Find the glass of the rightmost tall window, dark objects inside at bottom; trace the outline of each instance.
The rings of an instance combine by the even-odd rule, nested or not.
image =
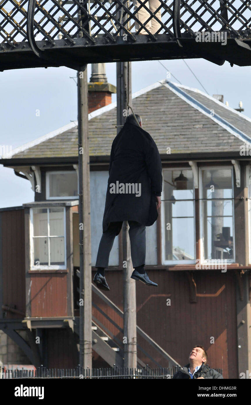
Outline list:
[[[200,169],[202,256],[234,260],[232,168]]]

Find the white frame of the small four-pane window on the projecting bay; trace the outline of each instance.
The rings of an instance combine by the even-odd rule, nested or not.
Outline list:
[[[50,241],[49,238],[49,209],[50,208],[63,208],[63,229],[64,229],[64,249],[65,249],[65,255],[64,255],[64,264],[53,264],[53,265],[40,265],[40,266],[34,266],[34,226],[33,226],[33,209],[47,209],[47,226],[48,226],[48,236],[45,236],[48,238],[48,260],[50,261]],[[44,237],[41,235],[40,237]],[[53,235],[53,237],[57,237]],[[30,208],[30,270],[66,270],[67,268],[67,263],[66,263],[66,215],[65,215],[65,207],[53,207],[53,206],[46,206],[46,207],[34,207]]]

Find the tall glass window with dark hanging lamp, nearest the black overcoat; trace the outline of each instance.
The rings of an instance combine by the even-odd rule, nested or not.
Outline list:
[[[163,182],[163,262],[194,263],[196,243],[192,169],[164,169]]]

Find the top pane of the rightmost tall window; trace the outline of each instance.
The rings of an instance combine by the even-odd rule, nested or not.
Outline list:
[[[203,198],[232,198],[232,169],[202,169]]]

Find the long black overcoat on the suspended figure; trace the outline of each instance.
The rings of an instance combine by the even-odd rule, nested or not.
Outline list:
[[[161,192],[162,165],[156,143],[141,127],[125,123],[112,143],[103,232],[110,222],[154,224],[156,196]]]

